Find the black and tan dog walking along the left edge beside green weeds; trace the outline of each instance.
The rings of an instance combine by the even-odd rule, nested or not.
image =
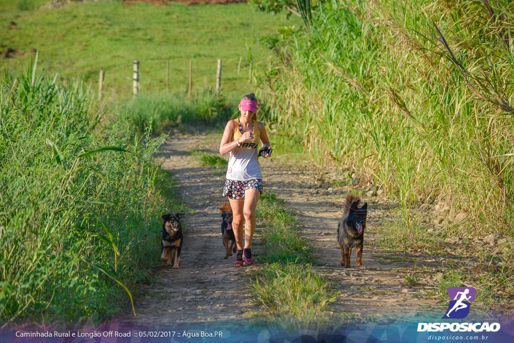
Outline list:
[[[173,269],[178,268],[180,250],[182,250],[184,241],[182,226],[180,225],[181,215],[183,213],[168,213],[162,216],[164,222],[162,223],[161,260],[168,262],[170,265],[173,264]]]

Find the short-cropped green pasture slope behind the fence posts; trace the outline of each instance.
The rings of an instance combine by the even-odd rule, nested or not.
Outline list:
[[[222,59],[222,91],[240,96],[248,88],[247,45],[254,66],[266,63],[269,53],[256,39],[297,19],[286,21],[282,15],[258,13],[246,4],[97,2],[21,11],[12,2],[2,0],[0,23],[8,27],[11,21],[17,28],[0,30],[0,50],[19,49],[22,61],[27,61],[31,49],[38,49],[42,67],[65,78],[84,77],[95,88],[99,70],[103,69],[105,89],[111,95],[131,94],[133,60],[140,61],[140,88],[148,94],[166,89],[167,61],[171,89],[187,92],[190,60],[193,88],[206,84],[214,87],[217,59]],[[18,64],[16,59],[0,59],[0,66]]]

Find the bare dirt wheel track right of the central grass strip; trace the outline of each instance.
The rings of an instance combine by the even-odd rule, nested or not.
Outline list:
[[[356,252],[352,251],[351,268],[340,266],[341,249],[337,243],[337,222],[341,218],[346,194],[350,191],[369,192],[356,184],[333,186],[340,183],[341,173],[298,168],[280,157],[262,162],[266,189],[296,209],[302,222],[302,233],[315,247],[321,275],[340,290],[334,311],[352,314],[357,319],[383,320],[409,318],[417,314],[437,311],[437,300],[426,301],[427,292],[435,282],[433,276],[441,267],[441,258],[389,254],[376,249],[375,240],[381,227],[388,225],[394,204],[384,203],[376,196],[362,196],[368,203],[368,219],[364,233],[362,266],[356,266]],[[287,159],[287,156],[282,158]],[[305,162],[308,166],[308,162]],[[287,176],[285,174],[287,173]],[[285,176],[285,177],[284,177]],[[404,276],[414,275],[423,268],[425,279],[409,285]],[[421,300],[424,299],[424,300]]]

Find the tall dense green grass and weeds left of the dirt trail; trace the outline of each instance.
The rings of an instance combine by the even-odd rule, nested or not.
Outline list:
[[[81,83],[35,62],[0,79],[0,323],[97,321],[158,256],[162,138],[102,124]]]

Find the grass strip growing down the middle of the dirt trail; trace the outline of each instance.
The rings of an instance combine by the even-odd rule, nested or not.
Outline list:
[[[263,228],[255,231],[262,249],[257,258],[265,265],[250,283],[253,302],[260,308],[254,315],[287,329],[328,322],[333,315],[328,305],[337,292],[313,268],[315,260],[299,235],[296,216],[272,193],[262,194],[257,215],[263,221]]]

